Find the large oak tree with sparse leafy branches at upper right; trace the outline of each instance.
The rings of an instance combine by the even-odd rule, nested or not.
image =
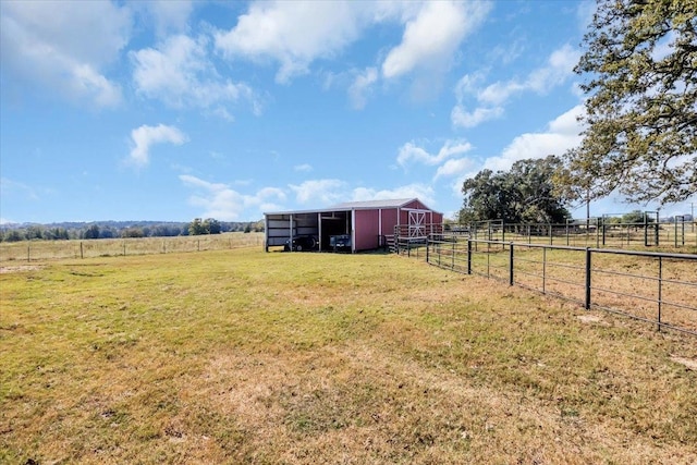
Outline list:
[[[575,71],[586,130],[566,194],[681,201],[697,192],[697,0],[598,0]]]

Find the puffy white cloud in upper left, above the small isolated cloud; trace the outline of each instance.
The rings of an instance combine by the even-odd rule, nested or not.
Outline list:
[[[223,102],[248,99],[256,112],[258,102],[252,88],[220,77],[208,59],[207,46],[208,40],[204,36],[193,39],[176,35],[158,48],[131,52],[136,91],[175,108],[215,107],[213,114],[225,120],[232,117]]]

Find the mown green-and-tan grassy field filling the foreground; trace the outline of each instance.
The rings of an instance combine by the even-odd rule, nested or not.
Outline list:
[[[519,287],[256,247],[9,271],[0,463],[697,462],[695,338]]]

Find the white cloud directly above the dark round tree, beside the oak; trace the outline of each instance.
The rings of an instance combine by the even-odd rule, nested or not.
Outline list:
[[[583,125],[577,117],[583,112],[584,106],[578,105],[551,121],[546,132],[521,134],[500,156],[488,158],[484,168],[493,171],[509,170],[518,160],[545,158],[548,155],[561,156],[580,143]]]

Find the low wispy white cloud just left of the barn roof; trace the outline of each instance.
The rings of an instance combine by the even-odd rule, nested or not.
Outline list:
[[[264,187],[255,195],[244,195],[228,184],[212,183],[189,174],[181,174],[179,179],[185,186],[197,189],[197,193],[188,198],[188,203],[201,209],[201,218],[215,218],[220,221],[258,218],[264,211],[278,209],[273,199],[285,200],[285,193],[277,187]]]

